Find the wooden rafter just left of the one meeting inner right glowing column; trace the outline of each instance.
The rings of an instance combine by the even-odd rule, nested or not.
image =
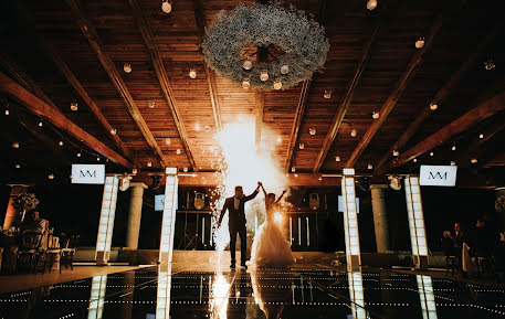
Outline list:
[[[347,88],[346,95],[340,103],[340,105],[337,108],[337,113],[335,114],[335,117],[333,119],[333,125],[328,130],[328,134],[326,135],[325,140],[323,141],[323,147],[319,150],[319,153],[317,155],[316,161],[314,163],[313,172],[318,172],[323,163],[325,162],[326,156],[328,155],[328,151],[332,147],[332,145],[335,141],[335,138],[337,137],[338,130],[340,129],[340,125],[344,120],[344,117],[346,116],[347,109],[349,108],[350,102],[353,100],[353,96],[355,93],[355,88],[358,85],[359,79],[361,78],[362,72],[365,71],[368,61],[370,60],[371,55],[371,47],[374,42],[377,39],[377,35],[379,34],[379,29],[380,24],[377,23],[376,26],[374,28],[374,33],[370,36],[370,40],[368,41],[367,45],[365,46],[364,54],[361,57],[361,61],[359,62],[358,68],[356,70],[355,76],[353,77],[353,81],[349,84],[349,87]]]

